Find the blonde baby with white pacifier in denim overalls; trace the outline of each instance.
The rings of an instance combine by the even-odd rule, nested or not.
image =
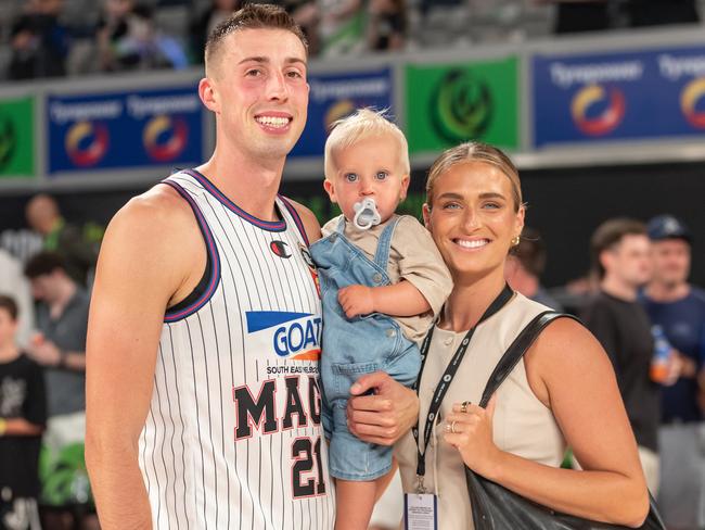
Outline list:
[[[409,155],[399,128],[362,109],[338,121],[325,143],[323,188],[343,215],[311,245],[323,302],[321,379],[330,470],[336,481],[336,530],[368,528],[374,479],[392,468],[392,447],[347,429],[350,386],[383,370],[412,386],[419,344],[452,289],[428,231],[395,214],[407,197]]]

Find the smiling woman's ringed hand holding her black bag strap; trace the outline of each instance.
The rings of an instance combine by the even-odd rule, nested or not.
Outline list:
[[[458,450],[465,465],[478,475],[491,479],[501,456],[492,441],[492,417],[497,394],[487,408],[467,403],[453,404],[453,412],[446,416],[444,439]],[[464,412],[463,412],[464,409]]]

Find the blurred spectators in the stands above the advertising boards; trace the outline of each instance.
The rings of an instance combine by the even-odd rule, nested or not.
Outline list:
[[[185,68],[240,0],[3,0],[8,79]],[[280,0],[312,56],[524,41],[553,34],[696,24],[701,0]]]

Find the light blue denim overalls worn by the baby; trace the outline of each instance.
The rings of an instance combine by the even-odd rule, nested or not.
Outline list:
[[[347,318],[337,301],[338,289],[351,285],[390,285],[387,261],[399,217],[382,230],[374,260],[336,231],[313,243],[323,301],[321,380],[324,418],[331,430],[330,472],[343,480],[373,480],[389,471],[392,447],[362,442],[347,430],[346,407],[350,386],[364,374],[383,370],[410,387],[416,380],[421,355],[394,318],[381,313]]]

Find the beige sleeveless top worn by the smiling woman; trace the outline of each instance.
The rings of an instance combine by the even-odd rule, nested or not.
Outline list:
[[[482,323],[440,405],[440,422],[426,450],[424,485],[438,495],[438,528],[443,530],[473,528],[467,500],[463,463],[458,451],[444,441],[444,421],[453,403],[469,400],[479,403],[485,384],[502,354],[522,329],[549,307],[515,294],[498,313]],[[425,418],[436,384],[452,358],[466,331],[456,333],[436,327],[419,388],[420,443],[423,443]],[[547,408],[531,392],[524,363],[518,363],[497,391],[493,418],[495,443],[502,451],[557,467],[565,451],[565,440]],[[416,488],[416,447],[409,432],[395,447],[405,493]]]

